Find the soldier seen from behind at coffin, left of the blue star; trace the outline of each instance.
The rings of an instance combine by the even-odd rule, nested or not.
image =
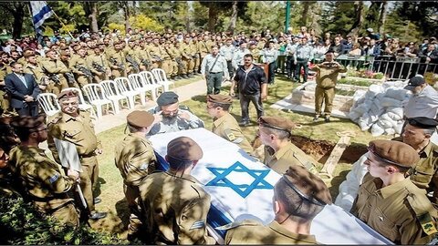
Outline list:
[[[210,195],[190,174],[203,150],[192,138],[174,138],[167,145],[167,172],[155,172],[140,186],[146,237],[151,244],[214,244],[207,235]],[[169,195],[172,194],[172,195]]]

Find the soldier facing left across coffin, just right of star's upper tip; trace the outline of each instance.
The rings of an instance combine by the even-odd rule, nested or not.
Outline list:
[[[258,134],[265,145],[263,163],[279,174],[285,173],[290,166],[303,166],[312,173],[318,173],[315,159],[310,158],[292,142],[292,129],[295,124],[287,118],[259,118]]]

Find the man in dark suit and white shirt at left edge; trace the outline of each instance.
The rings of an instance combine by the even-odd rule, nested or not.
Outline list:
[[[20,116],[36,117],[38,102],[36,97],[41,92],[31,74],[23,73],[20,63],[11,64],[12,73],[5,77],[5,87],[11,97],[11,107],[16,109]]]

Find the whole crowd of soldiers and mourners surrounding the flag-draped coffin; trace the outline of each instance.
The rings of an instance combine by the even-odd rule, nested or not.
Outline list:
[[[372,30],[368,32],[370,44],[372,40],[380,40]],[[384,39],[387,41],[388,36]],[[331,39],[328,36],[325,40]],[[335,36],[334,46],[321,53],[326,61],[313,68],[320,87],[315,120],[321,115],[325,100],[325,117],[329,121],[331,108],[327,104],[333,83],[336,84],[335,77],[345,69],[333,61],[345,52],[345,48],[339,48],[340,40],[340,36]],[[294,74],[291,67],[306,70],[308,62],[318,54],[314,47],[318,46],[317,41],[312,32],[301,28],[297,36],[272,36],[268,30],[251,37],[208,32],[183,35],[172,30],[166,30],[163,35],[142,30],[129,30],[126,36],[84,34],[79,40],[54,36],[43,48],[27,44],[20,46],[20,51],[14,41],[8,42],[9,49],[4,48],[1,56],[7,76],[0,83],[5,83],[2,105],[11,104],[2,107],[0,118],[0,191],[21,194],[37,210],[61,223],[78,226],[81,220],[105,218],[106,212],[95,209],[95,204],[101,201],[94,192],[99,179],[97,156],[103,150],[113,149],[101,148],[89,112],[78,108],[78,93],[61,90],[162,67],[171,78],[203,75],[208,87],[205,110],[214,120],[212,131],[282,176],[274,188],[275,219],[268,225],[251,220],[227,225],[224,242],[316,244],[318,238],[310,233],[312,220],[324,206],[332,203],[326,184],[318,177],[318,161],[292,142],[296,124],[289,118],[266,116],[262,101],[266,99],[267,86],[275,82],[274,63],[279,49],[285,47],[285,52],[289,52],[285,60],[289,76],[298,80],[296,76],[300,73]],[[32,43],[30,39],[29,42]],[[433,44],[426,50],[430,46],[435,54]],[[375,46],[370,47],[372,50],[369,48],[367,52],[374,53]],[[265,64],[267,73],[255,62]],[[222,77],[217,74],[232,78],[230,95],[220,94],[217,84]],[[402,139],[370,141],[366,161],[369,174],[351,210],[395,243],[423,244],[438,232],[436,196],[426,195],[438,194],[435,180],[438,152],[433,150],[438,147],[429,140],[438,125],[434,119],[438,97],[436,91],[433,94],[429,90],[427,97],[422,97],[425,87],[421,76],[412,77],[406,87],[417,96],[408,103],[408,109],[417,114],[407,118]],[[29,109],[40,91],[57,94],[61,110],[53,117]],[[229,113],[236,93],[242,106],[240,124]],[[206,230],[211,197],[191,174],[203,159],[203,149],[192,138],[174,138],[168,143],[164,157],[170,169],[157,171],[160,161],[148,139],[152,135],[204,127],[203,120],[181,105],[178,98],[172,91],[163,92],[157,98],[156,108],[130,112],[126,118],[129,133],[117,139],[113,153],[123,179],[120,186],[130,208],[129,238],[150,244],[214,244],[214,238]],[[262,143],[263,154],[250,144],[240,128],[249,124],[249,102],[253,102],[257,111],[257,139]],[[11,107],[19,116],[5,114]],[[426,111],[427,117],[418,115]],[[420,138],[421,134],[428,137]],[[44,141],[53,159],[38,148]],[[78,159],[68,158],[71,152]]]

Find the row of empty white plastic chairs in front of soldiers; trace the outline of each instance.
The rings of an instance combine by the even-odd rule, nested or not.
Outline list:
[[[146,104],[146,93],[150,92],[152,100],[156,101],[160,90],[169,91],[170,87],[175,87],[174,82],[166,77],[166,73],[161,68],[154,68],[150,71],[143,71],[139,74],[131,74],[128,77],[117,77],[114,80],[103,80],[99,84],[89,84],[82,87],[87,100],[82,91],[76,87],[63,89],[73,89],[78,92],[78,108],[90,110],[91,114],[97,118],[102,117],[102,108],[107,110],[111,107],[114,114],[120,112],[120,105],[123,102],[127,108],[135,107],[136,98],[140,98],[141,105]],[[57,103],[57,95],[53,93],[41,93],[37,101],[47,116],[53,116],[60,110]],[[94,108],[96,108],[96,113]]]

